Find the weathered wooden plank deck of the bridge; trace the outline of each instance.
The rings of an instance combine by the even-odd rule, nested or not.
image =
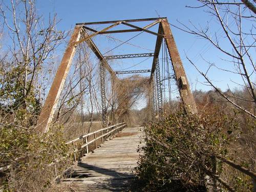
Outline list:
[[[94,153],[82,157],[72,178],[65,179],[75,191],[129,190],[137,166],[142,127],[126,127],[105,141]]]

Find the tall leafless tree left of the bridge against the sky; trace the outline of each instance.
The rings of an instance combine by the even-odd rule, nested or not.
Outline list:
[[[42,68],[54,58],[54,51],[66,37],[58,31],[56,15],[49,14],[47,23],[37,14],[34,0],[10,0],[0,6],[4,32],[9,34],[12,45],[8,47],[8,67],[18,69],[18,81],[22,86],[22,97],[19,104],[26,109],[26,101],[31,90],[39,84],[37,76]],[[11,17],[7,16],[11,15]]]

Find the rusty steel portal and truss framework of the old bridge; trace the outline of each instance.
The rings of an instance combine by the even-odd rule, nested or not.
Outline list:
[[[146,21],[153,21],[153,23],[141,28],[138,26],[135,26],[131,23],[133,22],[146,22]],[[106,27],[100,31],[96,31],[92,28],[89,28],[89,25],[100,25],[100,24],[112,24],[109,27]],[[129,26],[133,29],[126,29],[126,30],[112,30],[110,29],[118,26],[118,25],[125,25]],[[153,32],[148,30],[152,26],[159,24],[158,32]],[[88,34],[86,30],[92,31],[92,34]],[[161,49],[163,38],[166,42],[167,49],[169,52],[170,59],[172,61],[175,78],[178,84],[180,97],[184,106],[184,110],[187,113],[197,113],[197,107],[194,100],[194,97],[190,91],[188,80],[180,59],[180,55],[177,49],[177,46],[175,44],[175,40],[172,34],[172,31],[170,30],[168,20],[166,17],[162,18],[143,18],[143,19],[129,19],[129,20],[114,20],[114,21],[108,21],[108,22],[91,22],[91,23],[80,23],[76,24],[74,28],[74,32],[69,40],[69,44],[66,48],[66,51],[63,55],[63,58],[60,62],[60,65],[58,67],[57,73],[55,75],[55,78],[53,80],[51,89],[48,93],[47,99],[45,101],[44,106],[42,107],[41,113],[39,115],[39,118],[37,120],[37,126],[36,129],[39,132],[46,133],[49,130],[49,126],[52,122],[56,106],[59,100],[60,92],[63,89],[63,84],[65,83],[67,74],[69,72],[72,58],[75,53],[75,49],[78,44],[80,44],[83,41],[86,41],[88,46],[91,48],[91,50],[95,53],[95,55],[98,57],[100,61],[100,76],[101,76],[101,98],[102,98],[102,121],[103,124],[106,123],[106,107],[103,106],[105,103],[105,81],[103,78],[103,69],[106,69],[110,72],[111,77],[117,81],[118,77],[116,76],[115,72],[110,67],[107,60],[102,56],[94,42],[92,41],[92,37],[98,35],[98,34],[108,34],[108,33],[125,33],[125,32],[138,32],[143,31],[149,34],[153,34],[157,36],[156,40],[156,46],[155,46],[155,52],[154,52],[154,58],[152,63],[152,70],[151,70],[151,78],[150,81],[152,81],[152,77],[154,76],[155,72],[158,73],[157,69],[157,62],[158,62],[158,56]],[[136,54],[136,53],[135,53]],[[130,55],[135,55],[130,54]],[[142,56],[142,55],[141,55]],[[160,71],[159,71],[160,73]],[[160,74],[157,75],[157,93],[158,93],[158,103],[162,101],[162,94],[160,93],[161,90],[161,82],[159,80]],[[159,76],[159,78],[158,78]],[[159,87],[160,86],[160,87]],[[158,111],[161,111],[162,106],[158,104]]]

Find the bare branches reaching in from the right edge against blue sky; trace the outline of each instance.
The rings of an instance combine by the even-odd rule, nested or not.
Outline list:
[[[255,6],[249,1],[242,2],[219,2],[215,0],[198,0],[199,6],[187,6],[190,8],[204,8],[210,16],[216,19],[222,33],[224,33],[224,39],[221,39],[217,31],[210,28],[209,23],[205,27],[197,27],[193,23],[191,26],[184,25],[178,27],[182,31],[196,35],[199,38],[208,41],[214,48],[216,48],[222,54],[222,60],[226,62],[225,66],[219,67],[214,61],[209,61],[205,58],[203,60],[208,64],[208,69],[203,72],[199,69],[195,61],[190,59],[187,55],[188,61],[197,69],[197,71],[205,78],[209,86],[217,91],[223,98],[226,99],[233,106],[236,106],[239,110],[242,110],[251,117],[256,118],[256,93],[255,83],[252,78],[255,74],[255,60],[253,54],[255,53]],[[223,45],[223,41],[227,46]],[[228,59],[226,59],[228,58]],[[233,65],[233,70],[230,70],[230,63]],[[232,79],[238,86],[245,88],[249,94],[249,98],[246,96],[238,96],[231,90],[224,93],[218,89],[207,74],[210,73],[212,68],[217,68],[226,73],[236,74],[242,80],[242,84],[237,79]],[[245,106],[239,103],[239,101],[251,103],[251,108],[247,109]]]

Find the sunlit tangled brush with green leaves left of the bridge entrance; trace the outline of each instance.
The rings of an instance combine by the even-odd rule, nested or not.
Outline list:
[[[65,141],[61,126],[47,134],[34,127],[2,126],[0,167],[11,165],[0,177],[4,191],[49,191],[53,179],[72,162]]]

